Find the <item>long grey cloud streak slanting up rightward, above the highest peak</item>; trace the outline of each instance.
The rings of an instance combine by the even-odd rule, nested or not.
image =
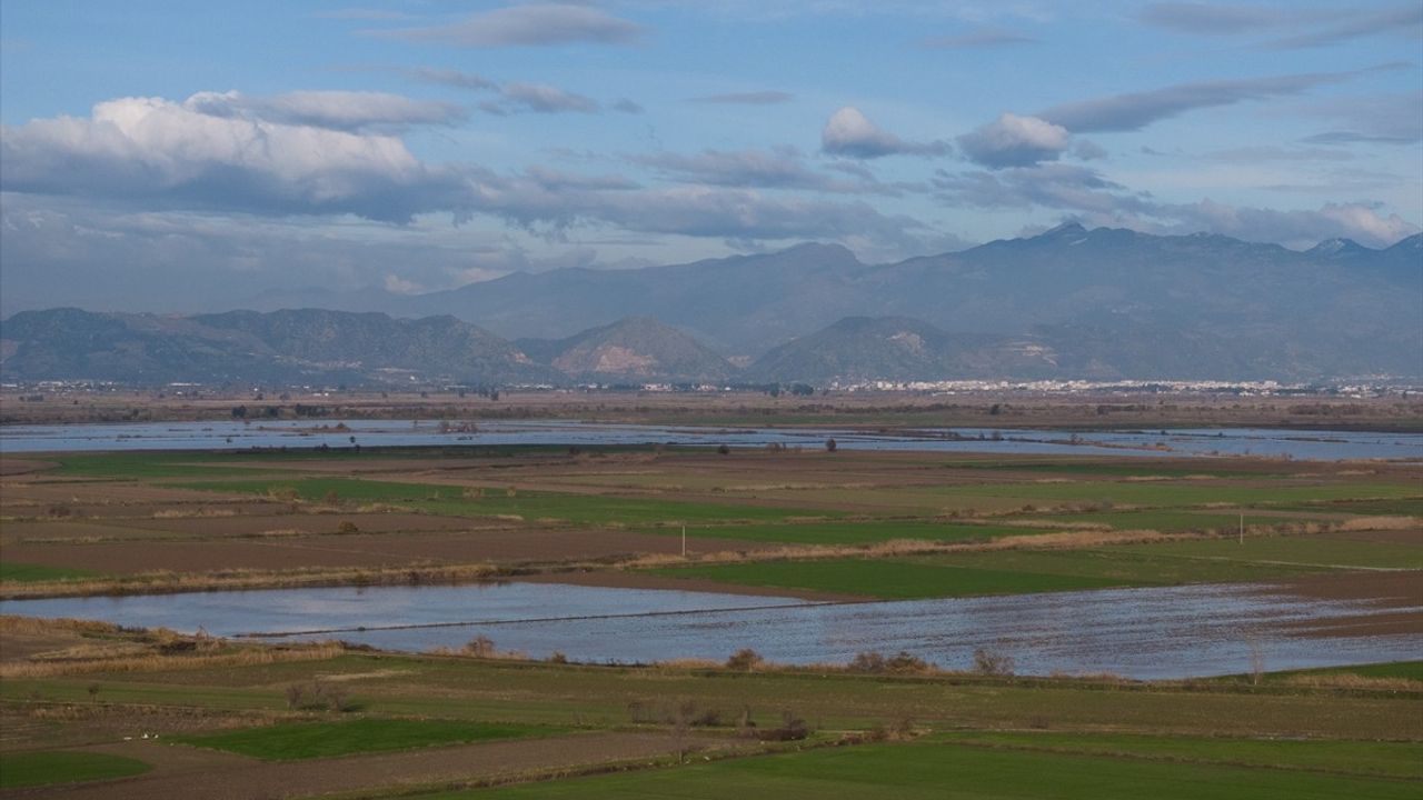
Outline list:
[[[1319,85],[1352,80],[1359,74],[1360,71],[1311,73],[1271,78],[1198,81],[1066,102],[1054,105],[1037,117],[1074,134],[1140,131],[1151,122],[1177,117],[1195,108],[1302,94]]]

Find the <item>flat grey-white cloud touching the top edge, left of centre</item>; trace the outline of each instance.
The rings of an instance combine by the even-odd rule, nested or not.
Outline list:
[[[529,3],[465,17],[434,27],[370,31],[407,41],[440,41],[455,47],[548,47],[555,44],[636,44],[643,27],[591,6]]]

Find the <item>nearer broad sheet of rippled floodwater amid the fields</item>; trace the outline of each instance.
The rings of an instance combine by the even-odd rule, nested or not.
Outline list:
[[[753,648],[781,663],[845,663],[865,651],[908,651],[946,669],[968,669],[973,651],[989,648],[1012,656],[1023,675],[1138,679],[1249,672],[1254,653],[1269,670],[1419,658],[1423,635],[1306,635],[1311,622],[1377,612],[1359,601],[1252,585],[861,604],[524,582],[0,602],[0,614],[269,641],[344,639],[406,652],[488,636],[499,649],[532,658],[558,651],[596,663],[723,660]]]

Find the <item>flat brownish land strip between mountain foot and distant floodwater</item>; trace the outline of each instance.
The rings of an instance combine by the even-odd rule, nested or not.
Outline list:
[[[297,406],[300,406],[300,413]],[[1385,397],[1234,393],[820,391],[269,391],[47,389],[0,391],[0,424],[181,420],[579,420],[684,426],[915,427],[1292,427],[1423,431],[1423,403]],[[314,414],[314,416],[312,416]]]

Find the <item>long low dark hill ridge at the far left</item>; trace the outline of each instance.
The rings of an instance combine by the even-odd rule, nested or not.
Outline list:
[[[0,323],[6,380],[552,383],[508,342],[454,317],[285,310],[194,317],[24,312]]]

